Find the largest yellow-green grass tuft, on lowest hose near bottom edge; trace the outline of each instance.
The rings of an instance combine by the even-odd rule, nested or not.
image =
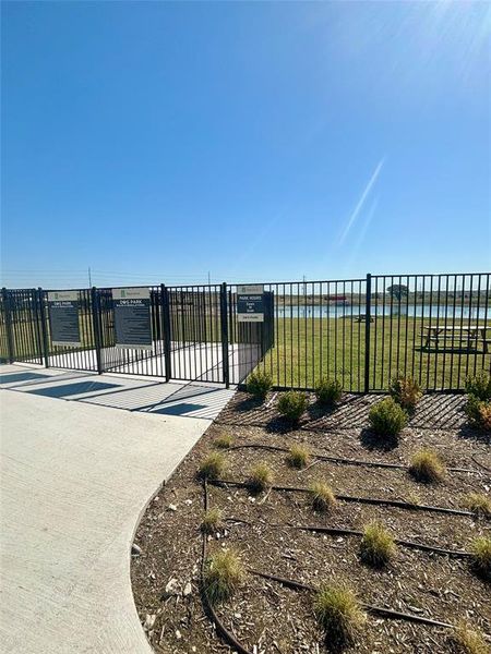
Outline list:
[[[314,597],[315,618],[333,644],[352,641],[364,622],[364,614],[355,593],[343,586],[324,585]]]

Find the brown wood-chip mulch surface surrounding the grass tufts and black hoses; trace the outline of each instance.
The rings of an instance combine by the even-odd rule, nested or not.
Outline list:
[[[304,487],[325,480],[336,494],[403,499],[424,505],[462,508],[469,492],[489,493],[489,438],[465,427],[460,396],[424,396],[397,446],[380,448],[368,428],[368,411],[376,396],[347,396],[327,414],[312,401],[295,431],[287,429],[275,410],[275,398],[258,407],[246,393],[236,393],[171,480],[149,504],[135,543],[141,554],[132,559],[136,608],[156,652],[230,652],[203,609],[200,595],[204,493],[196,481],[200,461],[214,450],[224,433],[233,445],[262,444],[288,448],[307,445],[316,453],[407,464],[421,447],[436,450],[448,467],[475,472],[447,473],[441,484],[415,482],[406,471],[354,467],[318,461],[297,471],[285,455],[263,449],[225,451],[228,480],[246,481],[249,469],[267,463],[279,486]],[[432,426],[429,426],[432,423]],[[450,426],[452,425],[452,426]],[[474,457],[474,458],[472,458]],[[314,459],[312,459],[314,460]],[[271,491],[251,496],[246,488],[208,485],[211,507],[219,507],[225,526],[207,541],[207,552],[220,547],[240,550],[247,566],[319,586],[343,581],[362,602],[454,623],[466,619],[491,633],[489,582],[477,577],[467,559],[399,547],[394,562],[374,570],[360,561],[357,536],[332,536],[292,530],[290,525],[339,526],[362,530],[382,520],[395,537],[448,549],[468,549],[477,535],[490,535],[490,523],[474,517],[403,510],[338,501],[333,511],[315,513],[301,493]],[[235,521],[237,519],[237,521]],[[240,522],[243,521],[243,522]],[[294,591],[274,581],[248,574],[232,598],[216,607],[224,627],[256,654],[328,649],[315,623],[309,592]],[[457,652],[450,630],[368,615],[367,623],[347,652]]]

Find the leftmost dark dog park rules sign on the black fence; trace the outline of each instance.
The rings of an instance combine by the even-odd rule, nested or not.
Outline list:
[[[79,291],[49,291],[48,310],[52,344],[81,346]]]

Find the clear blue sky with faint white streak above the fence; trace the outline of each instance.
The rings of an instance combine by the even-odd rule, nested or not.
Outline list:
[[[3,2],[2,284],[490,268],[487,2]]]

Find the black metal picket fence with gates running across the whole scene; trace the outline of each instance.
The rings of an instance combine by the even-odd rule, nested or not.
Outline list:
[[[382,391],[396,374],[462,390],[491,371],[490,274],[368,275],[264,284],[264,323],[240,323],[237,286],[147,287],[151,350],[116,347],[111,289],[79,289],[81,346],[53,346],[41,289],[2,290],[0,356],[93,372],[240,384],[255,367],[277,388],[336,377]]]

